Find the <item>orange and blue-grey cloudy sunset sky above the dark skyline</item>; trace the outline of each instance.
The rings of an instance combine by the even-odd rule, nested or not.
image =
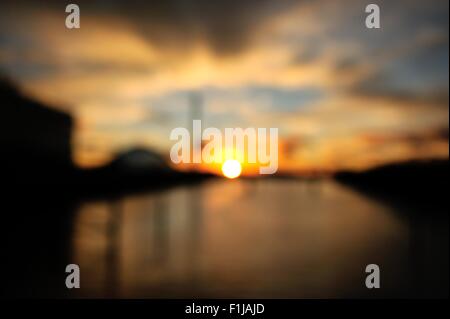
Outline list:
[[[363,170],[448,158],[448,1],[0,3],[0,74],[75,119],[83,167],[189,125],[277,127],[279,170]]]

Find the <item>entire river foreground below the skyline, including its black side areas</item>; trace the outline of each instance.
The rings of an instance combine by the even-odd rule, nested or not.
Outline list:
[[[3,209],[3,295],[118,298],[448,296],[444,207],[333,180],[222,180],[80,199],[36,189]],[[65,266],[81,288],[65,287]],[[381,268],[381,289],[364,285]]]

